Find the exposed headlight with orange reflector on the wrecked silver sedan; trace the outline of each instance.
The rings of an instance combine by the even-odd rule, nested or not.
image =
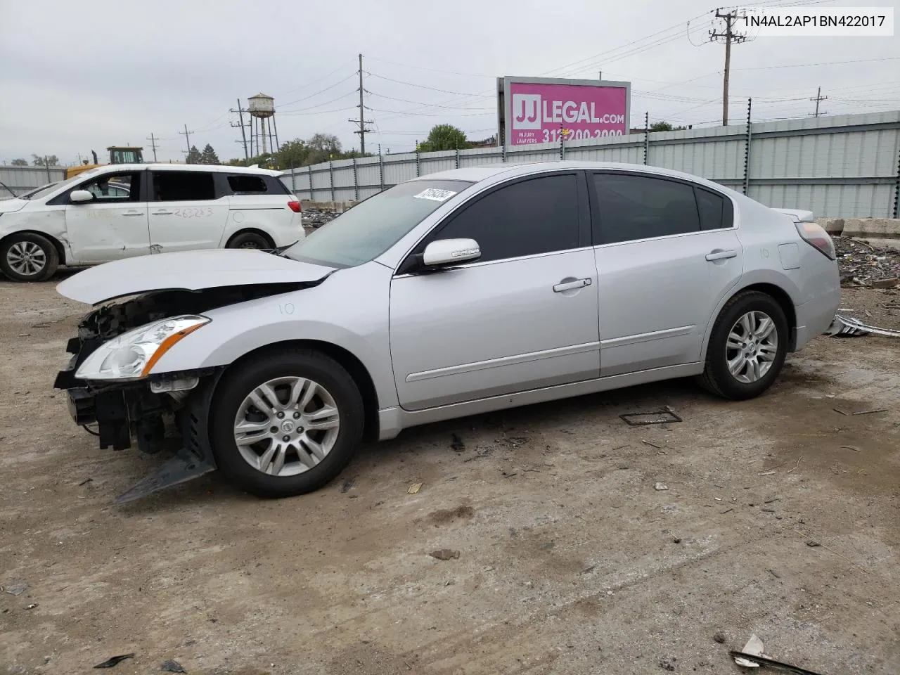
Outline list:
[[[171,317],[122,333],[97,347],[75,376],[79,380],[140,380],[178,340],[209,323],[206,317]]]

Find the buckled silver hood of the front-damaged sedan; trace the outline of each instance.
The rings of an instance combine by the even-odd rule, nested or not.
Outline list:
[[[202,291],[222,286],[314,284],[335,271],[247,248],[216,248],[130,257],[86,269],[57,293],[97,304],[150,291]]]

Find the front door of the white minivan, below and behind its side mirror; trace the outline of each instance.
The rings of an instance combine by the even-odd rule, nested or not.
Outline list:
[[[76,184],[66,194],[66,230],[73,262],[93,265],[150,252],[143,175],[143,171],[104,173]],[[75,190],[86,190],[94,199],[71,202],[68,195]]]

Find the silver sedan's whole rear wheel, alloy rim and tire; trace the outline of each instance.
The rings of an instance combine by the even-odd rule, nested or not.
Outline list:
[[[779,303],[766,293],[738,293],[713,326],[700,383],[726,399],[752,399],[779,376],[787,352],[788,320]]]

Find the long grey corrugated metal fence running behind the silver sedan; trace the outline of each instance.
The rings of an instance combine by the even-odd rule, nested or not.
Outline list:
[[[748,136],[750,142],[748,144]],[[749,145],[749,155],[748,155]],[[284,184],[302,199],[365,199],[417,175],[456,166],[566,159],[646,164],[701,175],[768,206],[817,216],[890,218],[900,184],[900,111],[577,140],[524,149],[477,148],[344,159],[295,169]],[[310,189],[312,184],[312,190]],[[332,187],[333,186],[333,187]]]

